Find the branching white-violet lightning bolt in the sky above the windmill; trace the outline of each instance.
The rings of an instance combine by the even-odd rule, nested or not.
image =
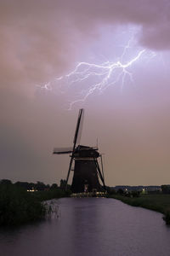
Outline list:
[[[70,102],[69,110],[77,102],[85,102],[88,96],[94,94],[95,91],[103,93],[109,86],[113,86],[117,83],[121,84],[121,90],[125,85],[125,80],[128,77],[133,83],[133,73],[130,71],[130,67],[142,56],[148,55],[148,50],[140,49],[130,61],[124,61],[127,50],[131,48],[133,38],[127,42],[127,45],[123,48],[122,55],[117,61],[105,61],[102,64],[95,64],[89,62],[78,62],[77,66],[71,73],[65,76],[54,79],[53,82],[48,82],[41,87],[41,89],[52,90],[53,84],[65,83],[68,84],[68,90],[72,90],[74,86],[79,85],[80,96],[75,101]],[[155,52],[150,52],[150,58],[156,55]],[[92,82],[93,81],[93,82]],[[87,82],[89,84],[82,88],[82,84]],[[60,88],[63,88],[60,86]],[[74,87],[75,88],[75,87]]]

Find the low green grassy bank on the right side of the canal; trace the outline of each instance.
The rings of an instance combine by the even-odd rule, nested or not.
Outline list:
[[[109,195],[110,198],[121,200],[133,207],[144,207],[164,214],[164,220],[170,224],[170,195],[140,195],[139,197],[127,197],[124,195]]]

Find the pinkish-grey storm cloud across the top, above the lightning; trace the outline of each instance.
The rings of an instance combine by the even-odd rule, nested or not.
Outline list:
[[[166,0],[1,1],[0,86],[48,81],[70,67],[99,26],[129,23],[141,26],[140,44],[169,49]]]

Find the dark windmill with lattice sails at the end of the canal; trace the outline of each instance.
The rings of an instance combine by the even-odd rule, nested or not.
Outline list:
[[[82,133],[82,122],[84,109],[80,109],[77,119],[77,127],[73,140],[73,147],[70,148],[54,148],[53,154],[71,154],[69,170],[66,177],[65,189],[68,183],[70,172],[72,170],[73,161],[74,175],[71,184],[73,193],[102,191],[105,189],[105,178],[103,172],[102,155],[99,154],[97,147],[88,147],[80,145]],[[101,160],[101,170],[99,167],[98,158]],[[99,183],[99,178],[103,183],[103,187]]]

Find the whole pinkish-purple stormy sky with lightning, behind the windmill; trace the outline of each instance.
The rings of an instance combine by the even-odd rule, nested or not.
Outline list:
[[[169,0],[0,0],[0,56],[0,179],[65,178],[84,108],[107,185],[170,183]]]

